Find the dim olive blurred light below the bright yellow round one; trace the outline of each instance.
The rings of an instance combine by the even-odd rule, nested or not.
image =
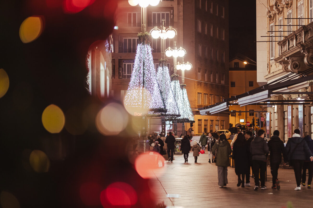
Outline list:
[[[30,153],[29,163],[33,170],[38,173],[48,172],[50,168],[49,157],[41,150],[33,150]]]

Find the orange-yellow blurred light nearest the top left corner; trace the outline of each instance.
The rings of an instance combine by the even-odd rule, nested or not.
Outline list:
[[[30,43],[36,40],[44,29],[44,19],[39,16],[26,18],[20,27],[19,35],[23,43]]]

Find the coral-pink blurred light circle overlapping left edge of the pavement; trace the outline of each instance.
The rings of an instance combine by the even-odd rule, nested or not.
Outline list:
[[[142,178],[152,178],[155,175],[162,174],[164,168],[159,168],[157,155],[149,153],[140,154],[135,160],[135,169]],[[162,157],[162,155],[159,155]],[[163,158],[164,159],[164,158]],[[154,172],[158,170],[157,172]]]

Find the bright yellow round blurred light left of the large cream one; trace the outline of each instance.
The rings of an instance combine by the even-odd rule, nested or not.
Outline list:
[[[56,105],[51,104],[42,113],[42,124],[50,133],[59,133],[65,123],[63,111]]]

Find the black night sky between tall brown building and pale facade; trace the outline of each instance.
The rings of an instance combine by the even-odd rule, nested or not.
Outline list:
[[[229,1],[229,59],[241,53],[256,61],[256,2]]]

